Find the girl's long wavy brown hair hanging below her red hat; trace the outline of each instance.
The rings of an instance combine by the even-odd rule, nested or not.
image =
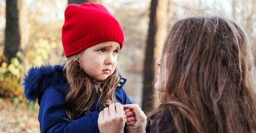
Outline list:
[[[114,92],[119,81],[119,74],[116,69],[111,76],[101,83],[93,81],[81,68],[80,55],[81,52],[68,57],[64,67],[70,87],[65,99],[65,109],[70,120],[75,120],[90,113],[89,110],[97,96],[99,97],[100,109],[115,102]],[[102,88],[102,92],[99,88]]]

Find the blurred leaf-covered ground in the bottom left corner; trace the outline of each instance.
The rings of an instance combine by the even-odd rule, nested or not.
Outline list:
[[[0,98],[1,133],[38,133],[38,108],[14,104],[10,99]]]

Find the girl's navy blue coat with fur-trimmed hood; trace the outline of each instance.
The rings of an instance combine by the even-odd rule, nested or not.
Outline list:
[[[120,78],[120,85],[115,90],[116,101],[131,104],[125,94],[126,79]],[[65,111],[65,97],[68,92],[67,79],[63,74],[63,66],[32,67],[24,78],[24,96],[29,101],[38,99],[40,106],[38,120],[41,132],[99,132],[96,109],[97,100],[88,115],[70,122]]]

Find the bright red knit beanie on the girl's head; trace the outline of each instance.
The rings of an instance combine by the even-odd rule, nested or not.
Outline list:
[[[100,4],[69,4],[65,10],[61,41],[66,57],[104,41],[122,48],[124,32],[118,21]]]

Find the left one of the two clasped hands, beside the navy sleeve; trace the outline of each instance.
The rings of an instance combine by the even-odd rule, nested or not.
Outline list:
[[[122,133],[126,122],[124,107],[120,103],[110,104],[108,108],[104,108],[99,113],[100,133]]]

